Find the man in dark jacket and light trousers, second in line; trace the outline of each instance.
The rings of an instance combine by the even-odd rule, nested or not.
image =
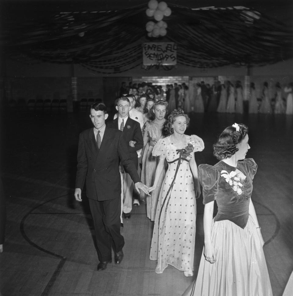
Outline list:
[[[112,129],[120,129],[123,131],[123,137],[128,145],[130,158],[133,160],[136,169],[138,168],[138,155],[137,151],[143,148],[143,135],[138,122],[129,117],[130,101],[128,97],[120,97],[117,101],[116,110],[118,117],[113,121],[108,122],[107,126]],[[123,217],[130,218],[132,210],[132,195],[133,195],[133,182],[127,172],[123,173]],[[121,197],[122,199],[122,197]]]

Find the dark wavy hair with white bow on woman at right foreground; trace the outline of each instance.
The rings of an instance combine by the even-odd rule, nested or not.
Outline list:
[[[232,125],[226,127],[219,136],[218,141],[213,145],[214,156],[222,160],[224,158],[230,158],[239,149],[239,144],[247,135],[248,127],[243,123],[239,123],[239,132]]]

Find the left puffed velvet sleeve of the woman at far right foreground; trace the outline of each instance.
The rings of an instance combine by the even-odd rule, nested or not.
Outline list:
[[[217,198],[219,189],[220,173],[215,167],[208,164],[198,166],[198,179],[202,185],[202,195],[204,205]]]

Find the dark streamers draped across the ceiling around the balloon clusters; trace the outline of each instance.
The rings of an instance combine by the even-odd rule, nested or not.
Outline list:
[[[241,6],[169,5],[164,37],[147,36],[146,4],[99,12],[60,12],[34,19],[2,17],[1,46],[17,60],[75,63],[102,73],[142,65],[142,43],[172,41],[177,63],[200,68],[266,65],[293,57],[293,30]]]

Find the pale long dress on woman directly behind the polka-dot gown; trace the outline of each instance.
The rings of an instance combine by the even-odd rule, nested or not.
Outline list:
[[[157,144],[157,141],[162,136],[163,125],[157,124],[155,121],[146,122],[143,128],[143,135],[149,138],[147,145],[143,151],[142,159],[142,170],[141,170],[141,181],[148,187],[154,184],[155,172],[159,158],[152,155],[154,146]],[[161,172],[160,179],[158,181],[157,188],[150,193],[150,196],[146,197],[147,201],[147,217],[154,221],[157,210],[157,203],[159,198],[159,193],[161,190],[161,185],[165,176],[165,169]]]

